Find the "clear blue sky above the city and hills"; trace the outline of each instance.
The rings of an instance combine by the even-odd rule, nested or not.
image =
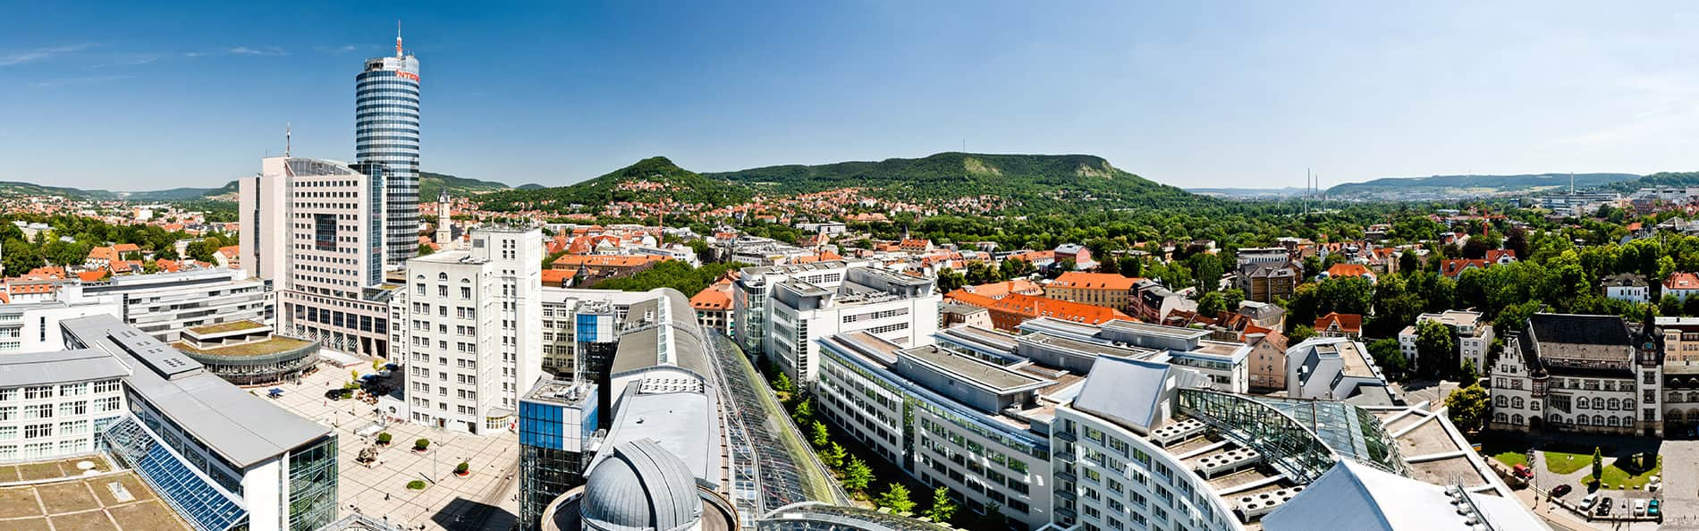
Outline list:
[[[217,187],[353,154],[421,63],[426,171],[562,185],[1091,153],[1183,187],[1699,170],[1699,3],[7,2],[0,180]]]

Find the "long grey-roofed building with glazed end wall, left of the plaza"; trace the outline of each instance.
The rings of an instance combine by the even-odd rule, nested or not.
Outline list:
[[[44,414],[44,402],[29,404],[31,395],[44,397],[41,387],[70,394],[54,411],[65,416],[56,422],[71,422],[53,428],[59,444],[80,438],[83,428],[75,422],[83,416],[80,397],[87,397],[88,429],[100,438],[100,448],[134,468],[194,529],[318,529],[336,519],[335,431],[221,380],[117,317],[90,316],[59,326],[70,351],[49,353],[46,363],[54,366],[37,372],[65,382],[36,382],[19,395],[25,407]],[[124,370],[122,397],[112,394],[110,372],[58,366],[90,363],[93,356]],[[121,407],[122,416],[109,416],[112,407]]]

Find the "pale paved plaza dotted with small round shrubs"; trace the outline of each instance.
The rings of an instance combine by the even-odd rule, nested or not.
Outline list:
[[[362,373],[370,366],[362,366]],[[372,446],[381,422],[375,407],[360,400],[326,400],[325,390],[350,380],[347,368],[319,365],[301,385],[279,385],[275,400],[291,412],[331,426],[340,436],[338,516],[360,512],[372,519],[399,523],[406,529],[508,529],[518,517],[518,434],[471,436],[409,422],[389,422],[382,431],[394,436],[389,448],[377,450],[372,467],[357,461],[360,448]],[[265,397],[267,388],[253,394]],[[415,439],[430,439],[430,451],[415,453]],[[471,463],[467,477],[454,475],[454,465]],[[406,483],[423,480],[425,490],[408,490]],[[423,526],[423,528],[421,528]]]

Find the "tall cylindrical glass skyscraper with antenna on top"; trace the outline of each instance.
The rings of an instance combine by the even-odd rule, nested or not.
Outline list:
[[[398,34],[396,54],[365,59],[353,80],[355,158],[386,166],[384,263],[399,265],[418,253],[420,61]]]

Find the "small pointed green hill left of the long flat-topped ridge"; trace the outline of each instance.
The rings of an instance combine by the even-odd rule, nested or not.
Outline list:
[[[488,210],[556,210],[566,212],[573,204],[603,205],[608,202],[652,202],[673,198],[686,204],[729,205],[749,200],[751,192],[724,180],[707,178],[680,168],[664,156],[651,156],[635,165],[615,170],[569,187],[503,190],[481,195]]]

